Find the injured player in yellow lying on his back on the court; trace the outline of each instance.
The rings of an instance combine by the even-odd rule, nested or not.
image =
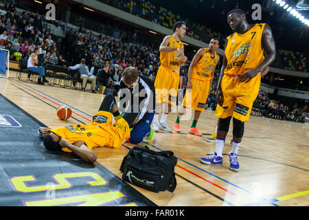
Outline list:
[[[84,161],[93,163],[97,156],[91,151],[92,148],[119,148],[124,140],[130,137],[129,126],[139,115],[131,113],[131,107],[122,117],[117,110],[115,98],[108,94],[102,101],[98,113],[91,118],[91,124],[74,124],[58,129],[41,127],[38,129],[38,136],[44,138],[45,148],[49,151],[73,152]],[[116,119],[114,124],[112,114]]]

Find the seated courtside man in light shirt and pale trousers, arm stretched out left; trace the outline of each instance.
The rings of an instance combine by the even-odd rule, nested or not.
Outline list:
[[[85,91],[87,80],[91,81],[91,92],[96,94],[95,91],[95,76],[91,75],[89,72],[89,67],[86,65],[86,60],[82,58],[79,64],[76,64],[73,67],[69,67],[70,69],[78,69],[80,72],[80,78],[82,79],[82,91]]]

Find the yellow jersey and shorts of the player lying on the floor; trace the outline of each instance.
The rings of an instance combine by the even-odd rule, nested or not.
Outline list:
[[[119,148],[125,138],[130,137],[126,120],[121,118],[112,124],[112,115],[107,111],[99,111],[93,115],[91,124],[73,124],[49,131],[68,140],[71,144],[83,141],[89,149],[97,146]],[[65,147],[62,147],[62,151],[71,152]]]

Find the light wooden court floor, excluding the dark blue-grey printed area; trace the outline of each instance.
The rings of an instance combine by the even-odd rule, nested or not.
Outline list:
[[[88,124],[104,98],[76,89],[37,85],[12,78],[0,78],[0,94],[47,124],[51,128],[68,124]],[[89,86],[89,85],[88,85]],[[68,104],[73,118],[61,121],[56,117],[60,104]],[[75,118],[75,119],[74,119]],[[168,116],[168,124],[176,113]],[[211,134],[216,127],[214,111],[205,110],[198,121],[202,133]],[[205,141],[209,135],[187,134],[192,119],[181,121],[182,133],[155,133],[150,141],[141,142],[150,148],[170,150],[179,157],[176,165],[176,190],[171,193],[150,192],[136,188],[159,206],[308,206],[309,205],[309,124],[286,122],[251,116],[245,123],[238,161],[239,172],[229,170],[229,159],[223,155],[223,166],[205,165],[200,157],[214,153],[215,144]],[[231,129],[223,150],[228,154]],[[124,144],[128,147],[133,144]],[[119,166],[128,148],[95,148],[98,162],[122,176]]]

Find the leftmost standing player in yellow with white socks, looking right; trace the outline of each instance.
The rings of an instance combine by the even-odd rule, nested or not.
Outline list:
[[[161,65],[155,80],[156,89],[156,113],[155,122],[152,125],[154,131],[163,129],[171,132],[165,122],[170,113],[171,104],[176,104],[176,97],[179,87],[179,69],[187,62],[187,57],[183,52],[183,43],[180,39],[185,36],[185,23],[178,21],[173,25],[173,35],[165,36],[160,45]],[[163,103],[163,115],[158,121],[160,104]],[[168,104],[167,104],[168,103]]]

